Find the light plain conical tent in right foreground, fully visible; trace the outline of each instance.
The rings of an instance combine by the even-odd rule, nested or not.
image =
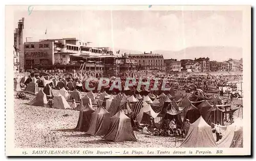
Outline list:
[[[186,139],[180,147],[217,148],[211,127],[204,121],[203,117],[200,117],[196,122],[190,124]]]

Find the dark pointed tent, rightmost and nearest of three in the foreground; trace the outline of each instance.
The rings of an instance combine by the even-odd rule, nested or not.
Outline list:
[[[122,110],[110,118],[110,126],[103,139],[114,142],[137,141],[131,125],[131,119]]]

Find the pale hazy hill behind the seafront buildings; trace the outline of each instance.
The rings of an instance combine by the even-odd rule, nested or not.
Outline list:
[[[243,57],[242,48],[237,47],[189,47],[181,51],[157,50],[152,53],[162,54],[164,59],[195,59],[199,57],[209,57],[210,60],[224,61],[229,58],[241,59]]]

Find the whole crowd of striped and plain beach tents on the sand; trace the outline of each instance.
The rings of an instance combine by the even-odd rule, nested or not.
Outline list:
[[[111,141],[137,141],[132,127],[133,120],[140,124],[147,124],[151,118],[155,119],[162,115],[159,128],[161,128],[164,119],[175,119],[180,127],[186,119],[191,123],[181,147],[217,147],[211,125],[217,122],[224,125],[224,114],[231,111],[222,109],[222,100],[219,96],[205,99],[203,95],[193,94],[188,98],[187,96],[180,97],[173,92],[167,95],[161,93],[159,96],[153,93],[148,93],[146,96],[134,93],[131,96],[126,96],[125,93],[109,95],[103,91],[97,98],[92,91],[81,97],[81,93],[77,89],[73,90],[69,96],[68,91],[63,86],[58,90],[57,95],[53,96],[47,80],[45,84],[44,81],[42,83],[44,88],[39,90],[38,83],[41,83],[41,80],[44,78],[38,81],[33,77],[27,84],[24,91],[36,95],[28,104],[49,107],[47,98],[52,97],[53,108],[71,109],[68,102],[75,100],[79,103],[76,109],[80,110],[76,129],[89,135],[104,135],[103,139]],[[59,83],[56,79],[52,79],[51,82],[56,82],[55,85]],[[15,89],[18,89],[18,84],[16,83]],[[95,110],[93,104],[100,106]],[[232,110],[232,112],[234,111]],[[232,140],[242,139],[242,127],[237,128],[231,124],[227,126],[226,131],[228,135],[224,136],[218,147],[241,146],[241,144],[233,145]]]

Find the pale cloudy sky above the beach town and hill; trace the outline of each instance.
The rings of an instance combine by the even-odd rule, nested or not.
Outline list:
[[[94,47],[179,51],[242,47],[242,11],[18,11],[29,40],[76,37]],[[47,35],[45,31],[47,29]]]

